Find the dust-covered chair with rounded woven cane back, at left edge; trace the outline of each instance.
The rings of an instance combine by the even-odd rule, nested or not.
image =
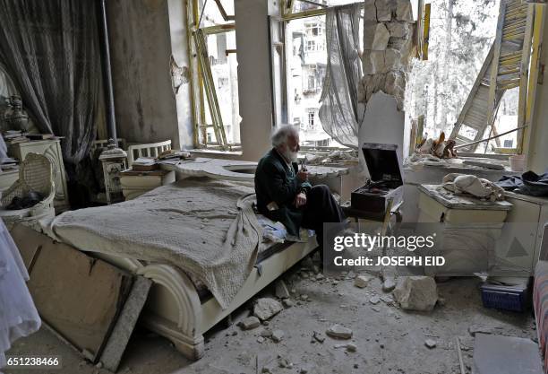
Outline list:
[[[13,205],[14,199],[21,202],[30,195],[39,196],[41,200],[27,208],[6,209]],[[39,220],[56,215],[55,196],[56,187],[51,161],[44,155],[29,153],[19,167],[19,179],[2,194],[0,218],[4,220],[8,230],[18,222],[39,230]]]

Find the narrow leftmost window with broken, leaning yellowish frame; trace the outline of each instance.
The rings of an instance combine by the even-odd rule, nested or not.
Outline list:
[[[193,0],[191,17],[194,146],[239,151],[234,1]]]

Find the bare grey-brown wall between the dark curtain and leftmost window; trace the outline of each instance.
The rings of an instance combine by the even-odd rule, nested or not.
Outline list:
[[[183,12],[178,9],[180,20],[184,20]],[[176,20],[173,14],[172,22]],[[170,30],[167,0],[108,1],[107,21],[118,136],[130,143],[171,139],[174,148],[192,144],[188,85],[181,87],[176,100],[169,70],[171,32],[180,40],[184,26],[176,23]],[[177,63],[188,65],[184,48],[181,43],[173,53]],[[181,137],[180,128],[186,130]]]

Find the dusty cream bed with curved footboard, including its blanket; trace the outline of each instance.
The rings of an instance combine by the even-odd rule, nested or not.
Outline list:
[[[188,196],[196,194],[196,188],[209,191],[215,199],[206,194],[193,201]],[[237,193],[228,196],[223,188]],[[300,242],[262,243],[251,210],[251,193],[253,188],[235,182],[184,179],[129,202],[63,213],[45,223],[44,230],[58,241],[150,278],[154,285],[142,323],[167,337],[186,357],[197,360],[204,353],[205,332],[317,247],[313,236]],[[227,209],[231,201],[234,211]],[[213,205],[220,210],[211,211]],[[142,222],[154,224],[146,227]],[[158,227],[166,228],[167,239]],[[226,233],[212,231],[218,228]],[[200,238],[203,248],[196,244]],[[221,251],[228,256],[211,250],[218,248],[216,243],[228,242],[233,247]],[[179,247],[170,248],[174,243]],[[237,243],[244,243],[243,251],[234,250]],[[201,261],[205,265],[196,265]],[[227,279],[218,274],[223,261],[230,269]],[[204,274],[195,271],[196,266]]]

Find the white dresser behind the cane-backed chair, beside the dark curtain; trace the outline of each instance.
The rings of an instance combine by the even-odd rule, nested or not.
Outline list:
[[[23,161],[29,153],[43,154],[53,165],[54,181],[56,183],[56,199],[54,205],[56,213],[68,210],[68,193],[66,188],[66,175],[64,172],[63,155],[59,139],[47,139],[30,141],[28,143],[10,144],[10,156]]]

